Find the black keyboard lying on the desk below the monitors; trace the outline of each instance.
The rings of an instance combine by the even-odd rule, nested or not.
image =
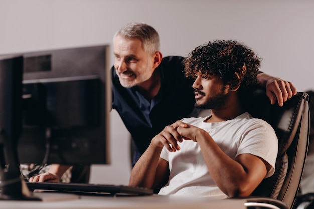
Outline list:
[[[85,183],[39,183],[26,182],[30,191],[53,190],[58,192],[84,192],[100,193],[110,195],[130,195],[146,196],[152,195],[153,190],[143,187],[124,186],[124,185],[107,185],[107,184],[85,184]]]

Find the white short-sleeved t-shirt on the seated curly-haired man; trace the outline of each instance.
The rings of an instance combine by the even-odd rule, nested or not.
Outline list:
[[[264,159],[274,173],[278,152],[278,139],[273,128],[249,113],[223,122],[207,123],[205,118],[184,118],[183,122],[206,130],[218,146],[232,159],[240,154],[252,154]],[[161,195],[211,196],[227,198],[213,181],[203,159],[199,144],[192,140],[179,143],[181,150],[169,152],[165,147],[160,155],[169,162],[170,176],[159,192]]]

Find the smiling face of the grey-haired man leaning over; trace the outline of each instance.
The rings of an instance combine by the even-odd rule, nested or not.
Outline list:
[[[118,35],[113,40],[113,50],[114,67],[123,87],[141,86],[152,76],[154,55],[144,51],[140,40]]]

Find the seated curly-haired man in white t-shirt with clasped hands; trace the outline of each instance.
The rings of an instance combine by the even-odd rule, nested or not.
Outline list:
[[[246,112],[260,59],[236,41],[214,41],[184,62],[195,78],[195,107],[211,115],[166,126],[135,164],[129,185],[166,183],[159,194],[249,196],[273,174],[278,151],[272,127]]]

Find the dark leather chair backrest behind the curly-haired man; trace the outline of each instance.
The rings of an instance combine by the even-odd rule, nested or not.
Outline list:
[[[275,173],[265,178],[252,196],[271,197],[292,208],[303,173],[309,141],[308,94],[298,92],[283,107],[271,105],[265,90],[253,96],[249,113],[267,121],[275,130],[278,157]]]

